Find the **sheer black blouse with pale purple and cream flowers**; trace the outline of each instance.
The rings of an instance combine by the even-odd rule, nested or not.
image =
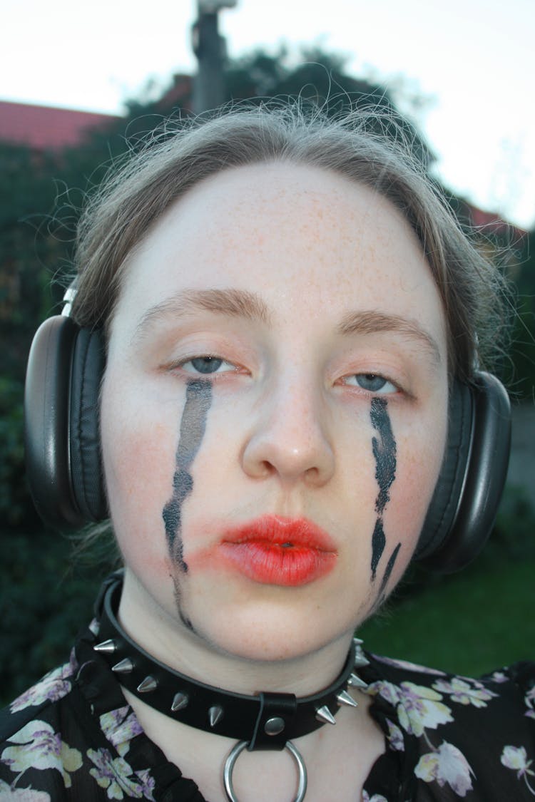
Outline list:
[[[97,635],[93,622],[66,666],[0,714],[1,802],[205,802],[144,734]],[[476,680],[367,658],[386,747],[361,802],[535,802],[534,663]]]

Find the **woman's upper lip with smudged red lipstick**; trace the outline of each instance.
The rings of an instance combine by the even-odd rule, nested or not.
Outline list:
[[[273,545],[292,545],[304,549],[337,552],[330,535],[306,518],[264,515],[226,529],[222,537],[223,543],[239,544],[248,541],[265,541]]]

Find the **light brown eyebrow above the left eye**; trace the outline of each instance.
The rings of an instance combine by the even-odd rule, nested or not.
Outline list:
[[[134,338],[158,322],[167,318],[184,318],[198,311],[223,314],[231,318],[245,318],[265,324],[270,322],[270,312],[256,293],[247,290],[183,290],[152,306],[136,326]]]

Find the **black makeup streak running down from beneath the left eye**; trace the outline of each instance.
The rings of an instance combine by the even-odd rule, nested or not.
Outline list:
[[[212,384],[202,379],[188,382],[186,401],[180,419],[180,439],[176,448],[176,468],[172,477],[172,497],[162,511],[169,553],[180,569],[187,573],[184,544],[181,537],[181,512],[184,499],[193,490],[191,464],[205,435],[206,416],[212,403]]]

